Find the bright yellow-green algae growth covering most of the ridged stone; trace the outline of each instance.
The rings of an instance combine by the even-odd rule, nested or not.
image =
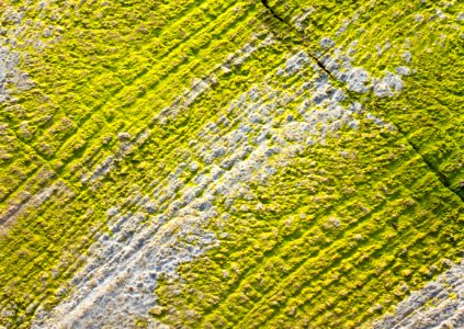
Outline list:
[[[305,1],[270,5],[288,21],[309,7]],[[360,19],[335,38],[340,46],[358,39],[365,47],[354,54],[357,65],[381,75],[404,64],[404,50],[412,54],[416,71],[405,78],[400,97],[350,93],[399,132],[363,120],[359,132],[342,131],[339,138],[306,149],[268,184],[250,182],[262,208],[257,200],[238,198],[230,218],[211,225],[219,237],[228,236],[199,261],[180,266],[184,282],[160,282],[159,318],[186,327],[359,327],[401,300],[404,283],[412,290],[431,279],[420,269],[437,264],[430,272],[435,275],[442,258],[459,259],[462,24],[448,21],[462,5],[443,10],[448,21],[415,23],[417,14],[430,18],[433,10],[432,4],[388,1],[317,5],[304,27],[312,53],[325,52],[319,39],[332,36],[358,11]],[[58,303],[58,288],[83,263],[80,256],[94,231],[104,227],[105,211],[124,204],[134,184],[149,191],[154,178],[167,177],[186,156],[192,136],[223,114],[218,109],[272,72],[288,49],[302,47],[292,41],[299,33],[274,22],[258,1],[58,2],[26,15],[54,24],[52,18],[60,12],[68,12],[59,20],[61,41],[39,54],[27,49],[23,66],[36,87],[18,92],[19,102],[2,111],[10,136],[4,145],[16,145],[8,150],[14,156],[2,158],[2,209],[21,202],[21,192],[35,194],[52,182],[65,182],[72,193],[60,192],[26,209],[0,239],[0,306],[15,309],[14,316],[0,317],[5,326],[27,327],[35,311],[29,305],[37,300],[47,307]],[[218,75],[213,92],[170,122],[154,120],[193,78],[208,75],[263,30],[275,33],[279,43],[231,73]],[[443,45],[435,44],[441,33],[448,35]],[[375,46],[387,39],[391,50],[376,58]],[[298,115],[288,106],[282,120],[288,114]],[[21,131],[24,121],[26,133]],[[106,136],[122,131],[138,136],[147,127],[148,141],[116,170],[91,188],[82,183],[83,175],[120,151],[122,143],[113,137],[104,144]],[[230,213],[224,201],[216,206]],[[58,274],[49,275],[54,271]],[[174,295],[178,288],[181,294]]]

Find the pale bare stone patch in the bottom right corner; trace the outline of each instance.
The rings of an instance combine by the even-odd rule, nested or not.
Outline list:
[[[414,292],[374,328],[464,328],[464,262]]]

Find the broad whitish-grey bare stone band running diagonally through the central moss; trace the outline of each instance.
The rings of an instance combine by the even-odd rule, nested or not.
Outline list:
[[[309,64],[308,56],[301,52],[291,56],[284,68],[287,75],[295,75]],[[34,326],[134,326],[135,319],[146,317],[157,305],[152,292],[158,277],[176,277],[180,263],[192,261],[218,243],[214,232],[202,229],[220,215],[213,207],[217,196],[234,200],[247,182],[258,180],[264,183],[276,173],[279,167],[294,157],[299,145],[316,140],[324,143],[326,134],[333,134],[342,126],[358,127],[359,122],[352,116],[357,105],[341,106],[339,102],[346,100],[346,95],[342,90],[331,92],[333,87],[326,75],[319,73],[314,80],[302,82],[314,86],[314,93],[324,99],[315,102],[320,109],[306,113],[303,107],[299,111],[303,122],[287,117],[279,129],[272,128],[279,105],[293,101],[298,92],[285,94],[286,98],[282,99],[278,90],[263,84],[234,100],[228,110],[234,115],[229,116],[231,122],[227,126],[237,128],[222,129],[218,134],[217,125],[224,124],[219,121],[205,127],[197,144],[192,147],[192,154],[200,155],[203,163],[189,163],[190,159],[184,159],[169,174],[163,188],[156,190],[152,198],[149,195],[134,196],[137,208],[160,213],[152,224],[144,224],[147,219],[144,213],[117,214],[116,209],[109,209],[107,215],[116,215],[109,219],[112,236],[101,236],[91,247],[88,265],[71,281],[76,293],[69,296],[69,302],[58,305],[52,315],[39,311]],[[268,94],[276,97],[264,104]],[[361,113],[360,110],[358,112]],[[118,138],[125,140],[129,136],[118,133]],[[250,139],[254,141],[252,146],[248,143]],[[193,171],[199,166],[202,170],[193,175],[194,184],[183,186],[178,178],[189,164],[194,166]],[[100,164],[100,168],[106,167]],[[103,174],[103,171],[100,169],[98,172]],[[169,197],[166,198],[166,195]],[[186,243],[183,239],[188,239]]]

